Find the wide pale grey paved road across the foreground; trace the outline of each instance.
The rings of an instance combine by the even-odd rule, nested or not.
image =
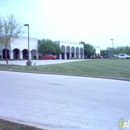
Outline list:
[[[0,117],[56,130],[119,130],[130,82],[0,71]]]

